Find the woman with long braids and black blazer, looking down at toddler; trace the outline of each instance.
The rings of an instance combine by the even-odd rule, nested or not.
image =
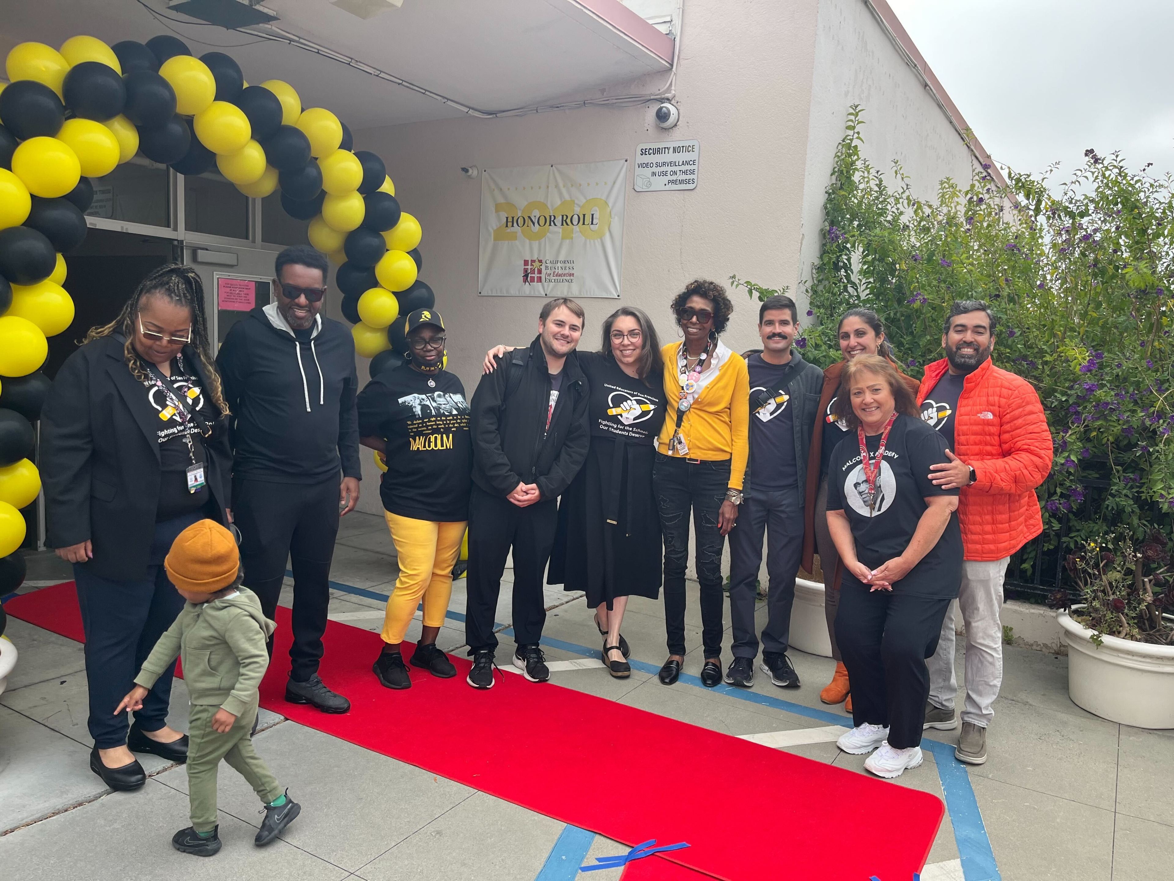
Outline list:
[[[167,726],[173,667],[127,727],[114,714],[155,641],[183,608],[163,569],[175,537],[228,523],[228,408],[212,364],[200,276],[148,275],[58,371],[41,415],[49,545],[74,564],[86,630],[89,765],[115,789],[146,781],[135,752],[184,761]]]

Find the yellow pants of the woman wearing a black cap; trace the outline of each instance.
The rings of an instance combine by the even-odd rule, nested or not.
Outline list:
[[[444,624],[444,613],[448,611],[448,598],[452,596],[452,567],[460,556],[460,543],[468,524],[416,520],[390,511],[384,511],[383,516],[399,554],[399,578],[387,600],[380,635],[384,643],[399,645],[421,598],[424,626],[439,627]]]

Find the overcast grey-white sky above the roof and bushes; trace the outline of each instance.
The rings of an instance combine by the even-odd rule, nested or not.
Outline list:
[[[1172,0],[889,0],[1000,164],[1174,172]]]

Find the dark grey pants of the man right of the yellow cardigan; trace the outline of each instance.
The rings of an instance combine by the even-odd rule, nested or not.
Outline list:
[[[737,525],[730,532],[730,623],[735,658],[754,658],[758,653],[754,608],[763,532],[767,533],[770,587],[762,652],[782,654],[790,643],[795,576],[803,556],[803,493],[797,486],[753,490],[742,503]]]

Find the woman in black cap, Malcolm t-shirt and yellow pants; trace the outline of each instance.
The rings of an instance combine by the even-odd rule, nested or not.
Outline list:
[[[444,370],[444,320],[417,309],[404,331],[406,363],[372,377],[358,398],[362,443],[387,463],[379,497],[399,556],[383,652],[372,667],[387,688],[412,685],[399,646],[421,601],[424,630],[410,663],[444,679],[457,674],[436,641],[465,537],[473,463],[465,386]]]

